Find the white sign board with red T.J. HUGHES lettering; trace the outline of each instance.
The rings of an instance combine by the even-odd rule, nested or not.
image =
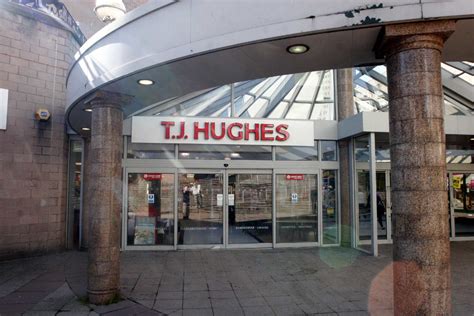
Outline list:
[[[312,121],[147,117],[132,118],[132,143],[314,146]]]

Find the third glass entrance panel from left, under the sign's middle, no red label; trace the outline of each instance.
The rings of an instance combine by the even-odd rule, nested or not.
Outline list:
[[[229,243],[272,242],[272,175],[229,174]]]

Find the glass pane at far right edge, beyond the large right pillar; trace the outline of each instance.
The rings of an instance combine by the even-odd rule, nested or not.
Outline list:
[[[474,236],[474,174],[453,174],[451,186],[455,236]]]

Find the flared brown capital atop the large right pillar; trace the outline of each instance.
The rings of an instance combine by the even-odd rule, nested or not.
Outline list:
[[[455,20],[386,25],[375,43],[375,55],[377,58],[387,58],[397,52],[420,48],[442,51],[444,42],[455,29]]]

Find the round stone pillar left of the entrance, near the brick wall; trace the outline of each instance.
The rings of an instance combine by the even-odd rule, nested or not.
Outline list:
[[[88,294],[107,304],[120,288],[120,213],[122,210],[122,109],[120,95],[98,92],[92,108],[90,144],[90,232]]]

